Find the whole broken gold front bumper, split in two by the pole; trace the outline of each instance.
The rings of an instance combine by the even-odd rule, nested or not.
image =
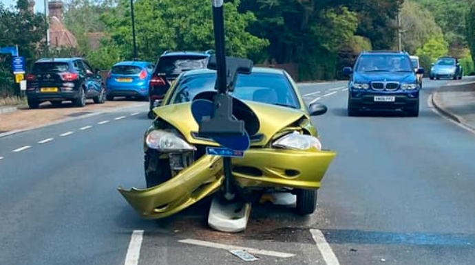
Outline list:
[[[233,159],[233,176],[242,188],[317,189],[334,157],[334,152],[253,148],[245,152],[244,158]],[[222,158],[204,155],[156,187],[129,191],[119,188],[119,192],[142,218],[158,219],[213,194],[223,180]]]

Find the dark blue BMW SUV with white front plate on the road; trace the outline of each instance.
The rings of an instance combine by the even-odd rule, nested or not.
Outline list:
[[[363,51],[354,69],[344,68],[350,76],[348,115],[361,111],[401,110],[410,117],[419,116],[419,82],[410,56],[403,51]]]

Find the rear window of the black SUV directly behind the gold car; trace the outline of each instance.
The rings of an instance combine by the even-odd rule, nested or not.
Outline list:
[[[179,74],[193,69],[206,68],[208,56],[163,56],[158,60],[156,73]]]

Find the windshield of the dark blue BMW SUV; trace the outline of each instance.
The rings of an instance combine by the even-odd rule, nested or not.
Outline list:
[[[357,72],[405,72],[414,71],[408,56],[401,54],[363,55],[357,61]]]

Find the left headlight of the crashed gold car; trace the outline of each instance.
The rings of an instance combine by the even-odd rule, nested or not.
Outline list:
[[[152,130],[145,138],[147,146],[160,152],[194,151],[196,148],[178,137],[174,133],[165,130]]]

